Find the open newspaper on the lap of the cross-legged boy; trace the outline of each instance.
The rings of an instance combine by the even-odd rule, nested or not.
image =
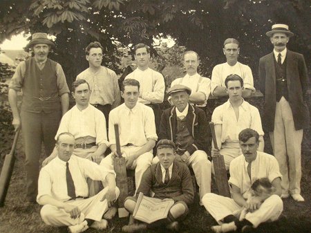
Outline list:
[[[159,219],[167,218],[169,209],[171,209],[173,204],[173,200],[162,201],[158,198],[144,196],[140,192],[133,212],[133,218],[144,223],[153,223]]]

